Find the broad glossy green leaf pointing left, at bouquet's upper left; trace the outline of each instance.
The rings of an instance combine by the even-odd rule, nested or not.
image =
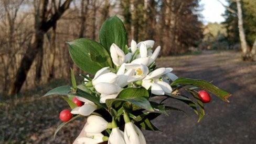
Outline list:
[[[95,75],[103,67],[112,67],[110,55],[100,43],[90,39],[77,39],[67,43],[73,62],[87,73]]]

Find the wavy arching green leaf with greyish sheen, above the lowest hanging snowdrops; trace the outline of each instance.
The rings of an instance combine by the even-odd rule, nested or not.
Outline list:
[[[145,109],[148,111],[154,111],[154,109],[150,105],[150,102],[148,102],[148,100],[144,97],[130,97],[127,99],[107,99],[106,105],[110,109],[110,107],[112,107],[112,105],[122,102],[122,101],[130,102],[131,104],[134,104],[134,105],[141,107],[142,109]]]

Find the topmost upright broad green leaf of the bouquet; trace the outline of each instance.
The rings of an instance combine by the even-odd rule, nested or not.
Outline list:
[[[103,23],[99,33],[99,40],[108,52],[110,46],[115,43],[125,54],[127,53],[127,49],[125,49],[127,44],[126,30],[122,20],[116,16],[110,17]]]

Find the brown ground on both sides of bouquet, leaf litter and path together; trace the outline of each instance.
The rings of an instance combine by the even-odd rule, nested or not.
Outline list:
[[[144,131],[147,143],[256,143],[255,63],[241,62],[237,52],[214,51],[163,57],[157,63],[159,67],[173,67],[179,77],[212,81],[233,96],[230,103],[212,97],[200,123],[188,106],[168,100],[166,103],[188,115],[172,111],[170,117],[156,118],[153,123],[164,133]],[[60,97],[38,100],[47,90],[63,83],[67,81],[54,81],[24,92],[18,100],[1,100],[0,143],[71,143],[83,122],[69,124],[54,140],[54,131],[60,124],[58,114],[68,106]]]

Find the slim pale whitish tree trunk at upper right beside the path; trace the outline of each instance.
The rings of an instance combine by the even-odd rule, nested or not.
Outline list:
[[[237,15],[238,15],[238,30],[239,30],[239,38],[241,42],[242,57],[243,57],[243,60],[246,61],[248,59],[248,51],[247,51],[246,35],[244,34],[244,29],[243,29],[242,6],[241,6],[240,0],[236,0],[236,2],[237,2]]]

